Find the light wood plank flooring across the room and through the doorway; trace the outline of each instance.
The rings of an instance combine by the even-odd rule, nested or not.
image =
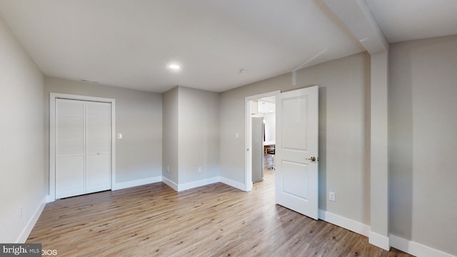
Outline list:
[[[273,172],[249,193],[154,183],[48,203],[27,243],[57,256],[411,256],[275,205]]]

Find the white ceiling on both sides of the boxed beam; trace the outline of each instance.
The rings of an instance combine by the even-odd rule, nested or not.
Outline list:
[[[457,34],[455,0],[366,2],[391,42]],[[44,74],[154,92],[220,92],[364,51],[321,0],[0,0],[0,15]]]

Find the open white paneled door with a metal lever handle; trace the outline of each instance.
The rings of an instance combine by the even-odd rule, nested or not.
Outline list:
[[[276,101],[276,203],[318,219],[318,86]]]

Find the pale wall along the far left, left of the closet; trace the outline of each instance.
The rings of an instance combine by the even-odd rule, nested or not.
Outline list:
[[[46,200],[43,92],[41,71],[0,18],[1,243],[23,243]]]

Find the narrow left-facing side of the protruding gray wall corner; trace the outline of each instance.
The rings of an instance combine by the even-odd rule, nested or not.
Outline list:
[[[179,183],[179,158],[178,158],[178,87],[162,94],[164,138],[162,139],[163,162],[162,176],[174,183]],[[169,171],[167,170],[169,167]]]

